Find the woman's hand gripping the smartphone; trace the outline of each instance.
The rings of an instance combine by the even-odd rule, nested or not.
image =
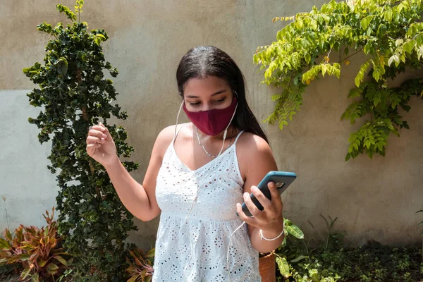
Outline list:
[[[247,216],[243,212],[243,208],[240,203],[236,204],[236,210],[240,219],[248,223],[250,226],[255,226],[262,229],[262,231],[278,234],[281,233],[283,229],[283,203],[275,183],[269,182],[267,187],[270,190],[271,200],[264,196],[262,191],[260,191],[256,186],[252,186],[251,188],[252,194],[255,195],[264,208],[262,211],[257,209],[250,198],[250,194],[247,192],[243,195],[244,202],[253,217]]]

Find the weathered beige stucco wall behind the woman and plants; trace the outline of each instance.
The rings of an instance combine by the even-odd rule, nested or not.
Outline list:
[[[73,7],[74,2],[61,3]],[[6,113],[0,121],[6,134],[0,140],[0,195],[8,197],[12,226],[43,224],[41,214],[54,204],[56,195],[54,176],[45,168],[49,146],[37,145],[37,128],[27,124],[27,117],[35,116],[37,109],[25,103],[25,91],[33,85],[21,71],[44,57],[47,37],[37,32],[36,25],[44,20],[52,24],[66,21],[55,11],[55,4],[0,0],[0,90],[8,90],[0,96],[0,112]],[[214,44],[233,56],[245,74],[252,109],[262,119],[273,109],[270,94],[277,90],[259,84],[262,75],[252,64],[252,54],[257,46],[274,41],[285,25],[272,24],[272,17],[311,7],[305,0],[86,1],[82,19],[90,28],[104,28],[111,38],[104,52],[120,73],[114,79],[121,93],[118,103],[130,116],[123,125],[137,149],[133,159],[141,164],[133,176],[142,181],[155,137],[175,122],[179,105],[176,67],[190,47]],[[340,117],[348,106],[346,96],[359,63],[357,58],[344,66],[341,80],[313,82],[304,94],[301,111],[283,131],[264,125],[279,168],[298,173],[298,180],[283,195],[284,213],[309,238],[326,235],[319,216],[324,214],[338,216],[335,228],[345,233],[348,242],[416,243],[422,216],[415,212],[423,209],[423,101],[413,101],[412,111],[404,115],[411,129],[401,130],[400,138],[391,137],[385,158],[345,162],[348,137],[360,124],[350,125]],[[412,75],[417,74],[408,74]],[[149,247],[157,223],[137,221],[140,231],[131,238]],[[2,208],[0,228],[4,227]]]

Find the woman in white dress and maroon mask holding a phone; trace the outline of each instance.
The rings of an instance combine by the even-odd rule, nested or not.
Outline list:
[[[179,111],[191,123],[178,125],[177,118],[159,133],[142,185],[119,161],[104,125],[90,130],[87,152],[134,216],[149,221],[160,214],[153,281],[261,281],[259,252],[283,240],[283,204],[274,183],[271,201],[255,186],[277,167],[247,105],[243,74],[220,49],[195,47],[176,79]],[[243,212],[244,201],[253,217]]]

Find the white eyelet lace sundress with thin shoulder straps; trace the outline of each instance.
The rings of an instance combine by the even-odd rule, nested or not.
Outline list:
[[[241,133],[240,133],[241,134]],[[261,281],[259,253],[252,247],[235,204],[243,202],[243,179],[236,141],[219,157],[195,171],[169,145],[157,176],[161,209],[153,282]],[[185,221],[185,219],[188,219]]]

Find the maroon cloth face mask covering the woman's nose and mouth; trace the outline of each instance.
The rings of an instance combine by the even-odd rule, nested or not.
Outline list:
[[[231,122],[237,103],[238,100],[234,96],[231,106],[209,111],[188,111],[184,103],[183,111],[202,133],[214,136],[221,133]]]

